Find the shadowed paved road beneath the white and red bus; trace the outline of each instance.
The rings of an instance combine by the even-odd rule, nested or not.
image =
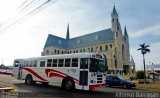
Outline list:
[[[24,81],[17,80],[11,76],[0,75],[0,85],[7,85],[15,87],[17,92],[32,92],[32,93],[46,93],[55,95],[56,97],[64,98],[64,97],[74,97],[74,98],[115,98],[117,92],[143,92],[142,90],[134,89],[123,89],[121,87],[114,88],[99,88],[93,91],[66,91],[62,90],[60,87],[54,86],[44,86],[42,84],[36,85],[26,85]],[[41,93],[42,94],[42,93]]]

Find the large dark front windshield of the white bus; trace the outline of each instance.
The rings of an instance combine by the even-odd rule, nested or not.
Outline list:
[[[90,58],[90,72],[106,72],[107,65],[105,61],[98,60],[95,58]]]

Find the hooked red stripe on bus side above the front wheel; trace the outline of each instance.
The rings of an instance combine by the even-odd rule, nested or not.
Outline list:
[[[57,71],[57,70],[53,70],[53,69],[45,69],[45,73],[48,77],[60,77],[60,78],[65,78],[66,76],[68,76],[67,74],[65,73],[62,73],[60,71]],[[79,84],[79,80],[76,79],[76,78],[73,78],[72,79],[77,83]]]

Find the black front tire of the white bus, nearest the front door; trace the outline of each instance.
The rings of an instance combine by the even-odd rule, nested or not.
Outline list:
[[[73,90],[75,88],[74,81],[70,78],[65,78],[62,82],[62,88],[66,90]]]

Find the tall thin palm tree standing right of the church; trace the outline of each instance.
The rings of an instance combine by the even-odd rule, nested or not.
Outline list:
[[[147,54],[147,52],[150,52],[150,49],[148,49],[149,45],[145,45],[145,43],[140,44],[140,48],[137,50],[141,50],[141,53],[143,55],[143,64],[144,64],[144,82],[146,83],[146,67],[145,67],[145,57],[144,55]]]

